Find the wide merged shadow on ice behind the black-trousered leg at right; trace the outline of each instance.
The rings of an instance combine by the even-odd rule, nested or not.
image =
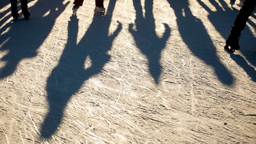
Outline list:
[[[231,25],[234,24],[234,20],[236,19],[239,10],[231,8],[230,5],[228,5],[224,0],[219,0],[222,7],[215,0],[209,0],[216,11],[211,10],[201,0],[197,0],[197,2],[208,12],[208,19],[219,32],[219,34],[221,34],[221,36],[225,39],[228,38]],[[256,10],[254,10],[254,12],[255,11]],[[256,19],[254,13],[252,13],[251,17]],[[251,25],[252,28],[256,28],[256,24],[250,19],[248,19],[247,24]],[[256,66],[255,57],[254,55],[250,54],[253,53],[253,51],[256,51],[256,38],[253,34],[253,31],[249,29],[248,25],[245,25],[245,29],[241,32],[241,35],[241,40],[239,41],[241,47],[240,51],[251,64]],[[225,41],[223,41],[223,44],[225,44]]]

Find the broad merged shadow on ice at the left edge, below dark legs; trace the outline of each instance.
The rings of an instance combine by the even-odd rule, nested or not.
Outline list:
[[[10,27],[10,30],[0,39],[0,43],[5,41],[0,51],[6,52],[0,59],[5,62],[4,66],[0,66],[0,78],[11,75],[22,59],[37,55],[37,49],[46,40],[56,18],[68,3],[63,5],[61,0],[39,0],[28,8],[31,13],[29,20],[20,16],[17,21],[7,23],[6,27]]]

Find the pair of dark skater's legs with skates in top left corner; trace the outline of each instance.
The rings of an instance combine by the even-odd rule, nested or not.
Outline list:
[[[16,19],[19,17],[19,13],[17,11],[17,3],[18,0],[10,0],[11,2],[11,14],[13,16],[13,19]],[[28,19],[30,16],[30,13],[28,12],[28,0],[20,0],[20,4],[22,7],[22,13],[25,17],[25,19]]]

